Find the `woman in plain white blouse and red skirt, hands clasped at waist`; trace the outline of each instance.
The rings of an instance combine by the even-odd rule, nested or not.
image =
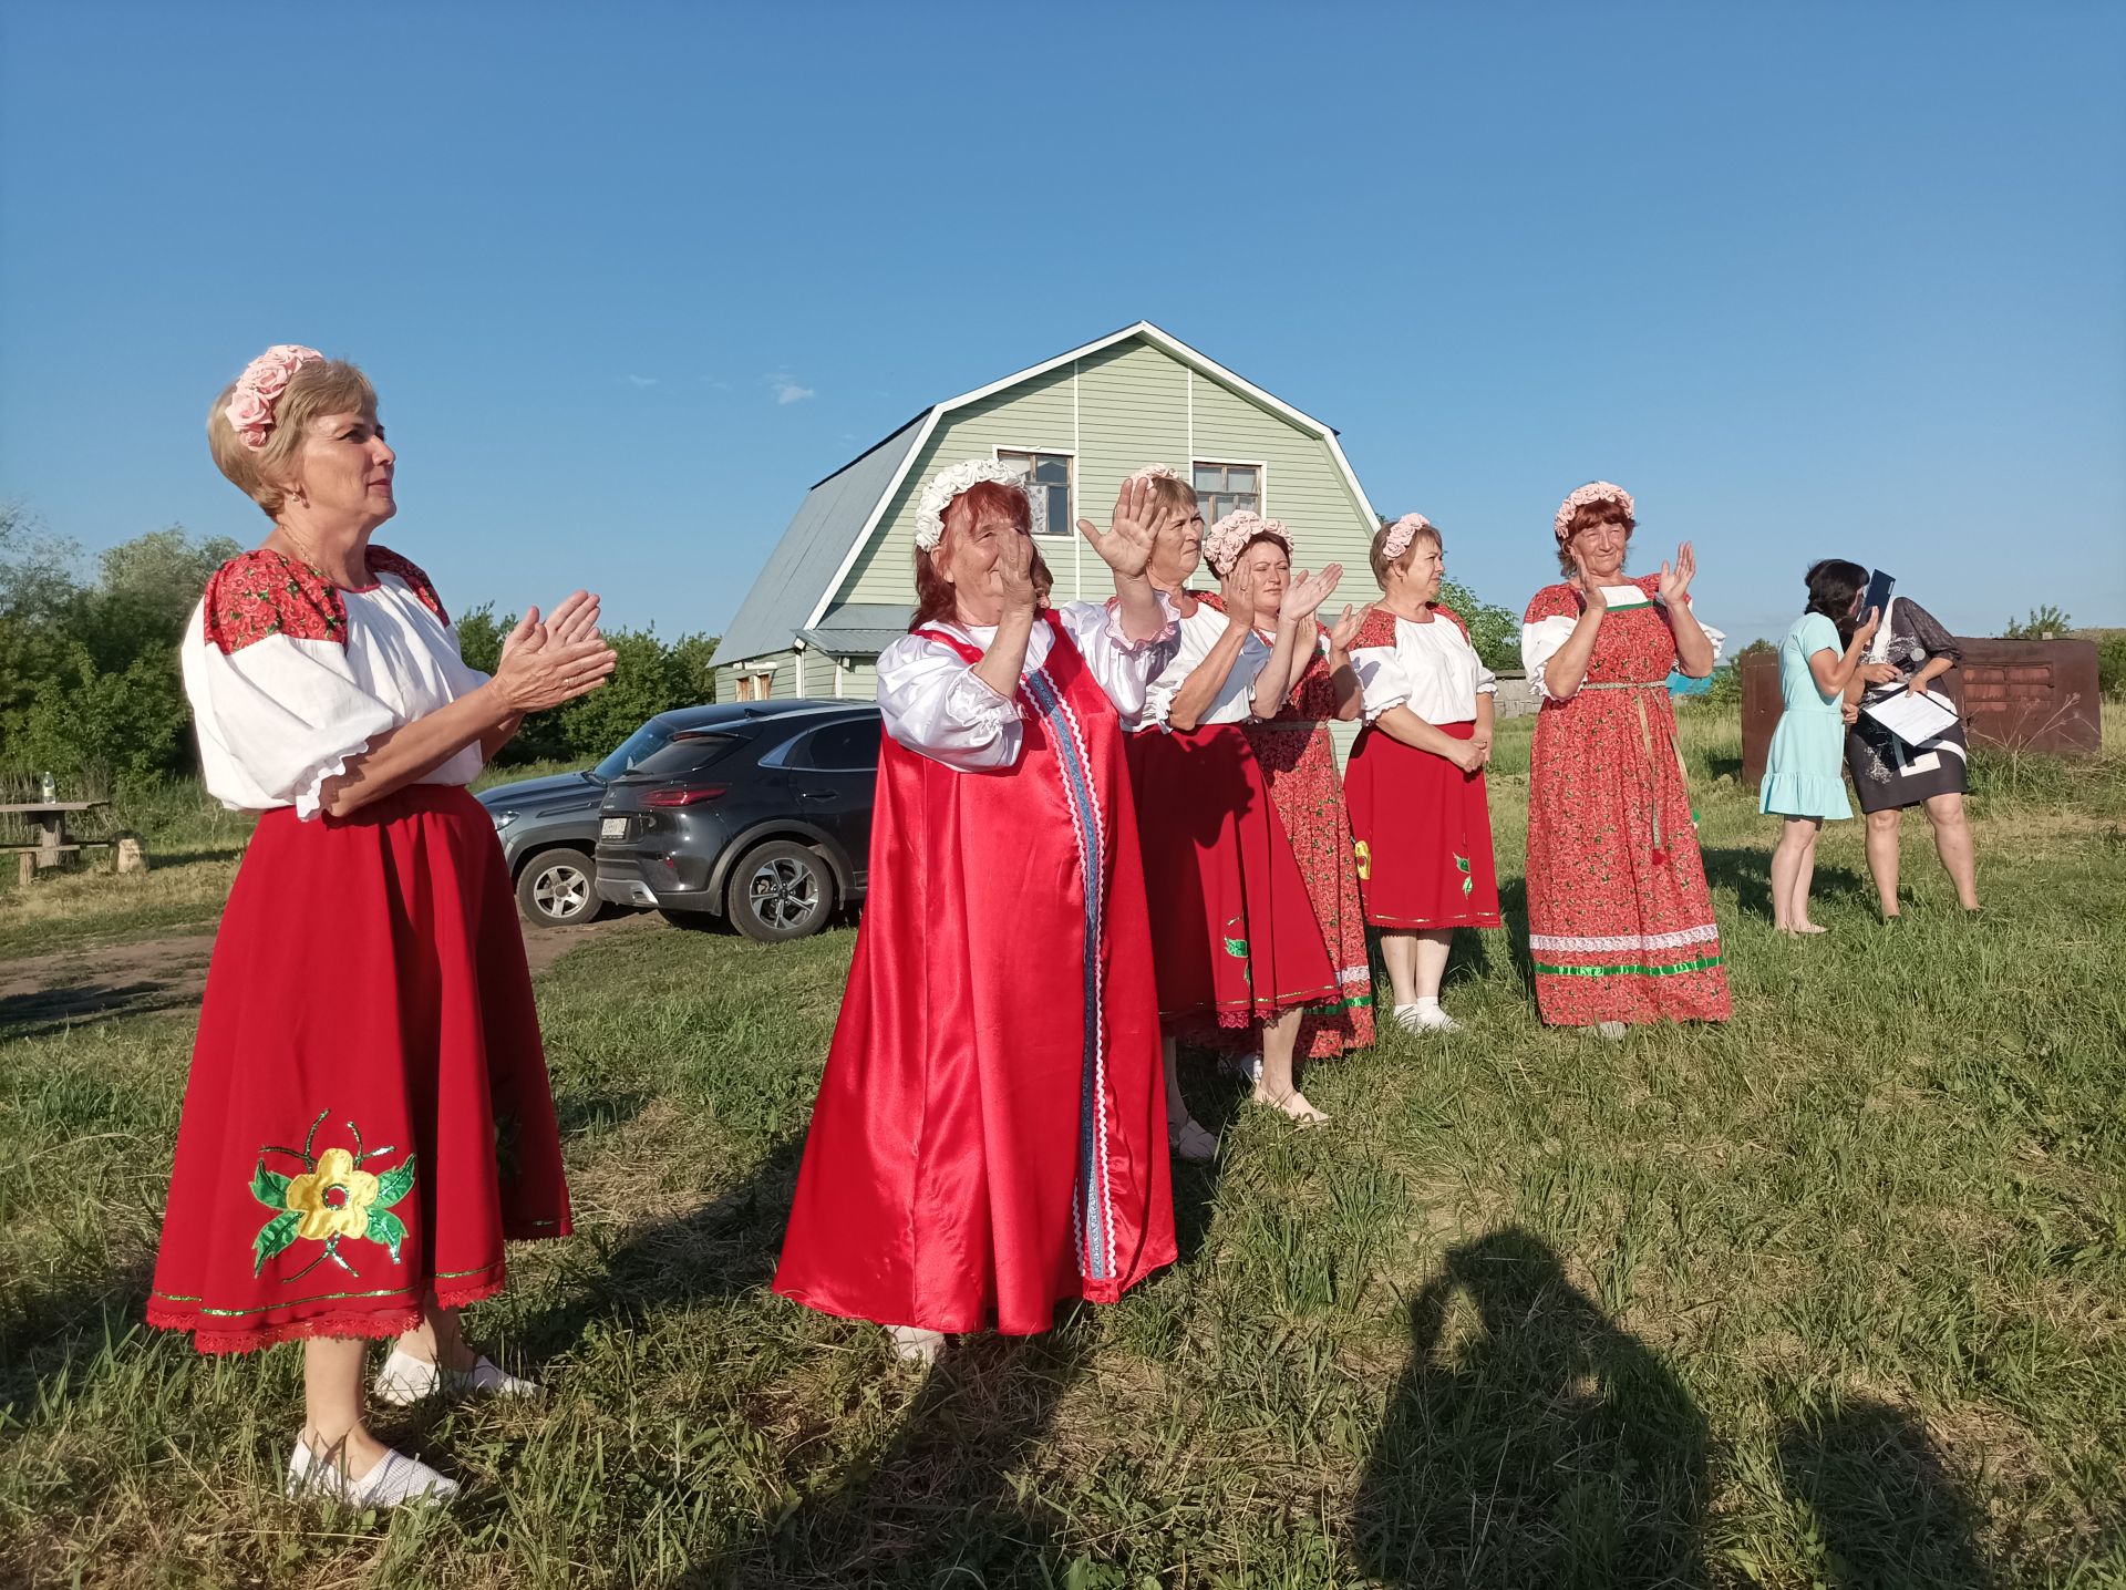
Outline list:
[[[1422,514],[1373,536],[1382,599],[1352,640],[1365,729],[1344,769],[1365,920],[1407,1031],[1452,1033],[1439,980],[1456,927],[1499,927],[1484,763],[1497,680],[1439,606],[1446,548]]]

